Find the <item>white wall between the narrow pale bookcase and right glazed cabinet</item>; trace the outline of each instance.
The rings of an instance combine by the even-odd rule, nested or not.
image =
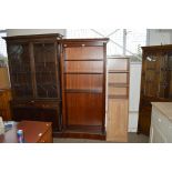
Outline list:
[[[130,63],[129,132],[136,132],[140,103],[141,62]]]

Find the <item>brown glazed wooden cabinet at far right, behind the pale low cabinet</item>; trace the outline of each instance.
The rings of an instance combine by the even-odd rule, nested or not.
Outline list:
[[[150,134],[151,102],[172,101],[172,45],[143,47],[138,133]]]

